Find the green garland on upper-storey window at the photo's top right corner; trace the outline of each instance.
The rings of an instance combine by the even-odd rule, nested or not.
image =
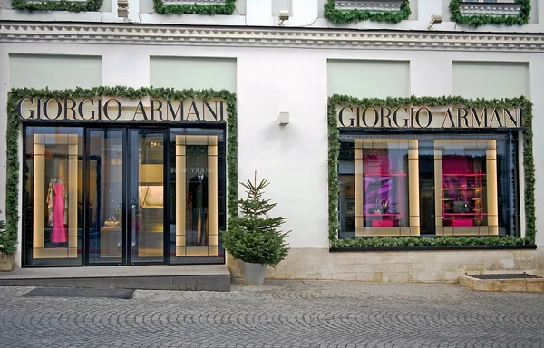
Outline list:
[[[523,25],[529,23],[530,18],[530,0],[516,0],[517,4],[521,4],[521,11],[519,15],[462,15],[461,14],[461,0],[452,0],[450,2],[450,12],[452,14],[452,21],[458,24],[480,26],[484,24],[499,24],[499,25]],[[482,4],[484,5],[484,4]]]

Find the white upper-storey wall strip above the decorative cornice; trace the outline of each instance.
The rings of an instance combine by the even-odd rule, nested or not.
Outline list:
[[[59,22],[98,22],[132,24],[189,24],[189,25],[233,25],[233,26],[269,26],[279,27],[277,11],[290,3],[291,16],[282,27],[314,27],[334,29],[388,29],[429,31],[428,25],[432,14],[442,14],[442,24],[432,27],[432,32],[502,32],[502,33],[540,33],[544,31],[544,5],[540,0],[531,1],[531,15],[526,25],[482,25],[474,29],[471,26],[451,22],[450,0],[411,0],[412,15],[398,24],[378,22],[354,22],[334,24],[323,17],[325,0],[238,0],[237,11],[232,15],[176,15],[153,13],[152,0],[130,0],[129,18],[117,16],[117,2],[104,0],[100,12],[24,12],[9,10],[11,0],[5,0],[5,7],[0,11],[0,20],[21,21],[59,21]]]

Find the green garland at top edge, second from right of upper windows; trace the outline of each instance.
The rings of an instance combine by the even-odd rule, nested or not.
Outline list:
[[[371,12],[368,10],[340,10],[336,8],[335,0],[327,0],[324,6],[325,18],[335,24],[354,21],[374,21],[399,23],[410,17],[410,1],[403,0],[399,11]]]

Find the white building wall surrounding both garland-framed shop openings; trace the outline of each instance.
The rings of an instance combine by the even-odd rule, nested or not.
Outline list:
[[[12,53],[63,56],[61,61],[67,60],[66,62],[72,62],[73,58],[65,56],[97,56],[101,58],[102,73],[96,73],[96,64],[91,62],[85,63],[84,68],[80,68],[87,75],[71,71],[70,69],[73,69],[71,63],[60,69],[53,65],[50,67],[44,65],[42,73],[38,73],[35,78],[29,76],[23,78],[22,73],[16,73],[24,71],[22,64],[11,71],[0,69],[0,110],[2,110],[0,115],[5,115],[7,93],[10,88],[24,85],[39,87],[44,85],[44,82],[50,88],[90,87],[92,84],[135,88],[169,85],[175,88],[228,88],[237,92],[238,181],[253,178],[255,170],[258,178],[269,179],[271,185],[266,192],[267,198],[278,203],[274,213],[287,217],[285,227],[292,230],[288,242],[293,251],[286,261],[287,266],[284,263],[277,268],[279,270],[274,276],[360,279],[357,276],[362,273],[362,270],[355,272],[355,268],[348,269],[354,262],[360,261],[361,256],[337,257],[326,250],[328,247],[326,106],[327,96],[332,92],[357,97],[410,94],[416,96],[460,94],[481,98],[528,96],[533,102],[534,115],[537,216],[539,211],[544,209],[544,200],[541,199],[544,197],[542,174],[544,160],[537,155],[538,150],[544,146],[543,137],[539,137],[539,131],[544,129],[544,121],[540,117],[544,114],[544,101],[541,98],[544,95],[544,84],[539,78],[544,76],[544,60],[540,45],[541,33],[544,32],[544,5],[538,4],[539,1],[532,2],[530,24],[485,25],[476,29],[450,21],[449,0],[412,0],[413,14],[409,20],[400,24],[376,22],[333,24],[323,18],[325,0],[238,0],[235,14],[219,16],[154,14],[151,0],[130,0],[128,20],[118,18],[116,3],[114,0],[105,0],[101,12],[96,13],[30,14],[3,8],[0,11],[0,21],[33,23],[29,26],[30,29],[27,29],[29,35],[18,39],[19,43],[0,33],[0,66],[9,66],[9,54]],[[5,2],[5,5],[10,7],[10,1]],[[282,25],[277,20],[277,12],[281,9],[289,9],[291,12],[289,20]],[[432,14],[442,14],[444,22],[428,29]],[[111,40],[131,35],[128,33],[129,30],[116,31],[114,28],[108,29],[110,31],[108,34],[104,34],[98,42],[92,41],[92,44],[85,41],[91,39],[82,36],[78,36],[79,41],[75,39],[71,41],[69,30],[66,30],[62,38],[52,39],[49,43],[32,43],[32,34],[43,34],[44,31],[50,30],[39,26],[38,22],[44,24],[55,21],[74,25],[78,22],[88,23],[88,26],[80,30],[90,37],[94,37],[93,31],[100,24],[130,23],[155,26],[160,24],[160,30],[151,33],[145,31],[147,30],[145,28],[149,27],[137,26],[138,30],[141,30],[138,43],[133,41],[111,44],[112,42],[109,42]],[[207,26],[199,28],[187,41],[174,39],[167,45],[161,42],[152,43],[147,39],[187,28],[181,25]],[[200,34],[219,30],[220,26],[231,27],[232,30],[228,34],[222,34],[217,41],[209,40],[199,45],[194,44]],[[273,32],[267,32],[268,30]],[[373,32],[369,33],[371,30]],[[394,38],[387,36],[391,30],[398,31],[395,32]],[[237,36],[239,32],[255,34],[256,39],[240,40],[238,45],[232,44],[239,37]],[[283,46],[277,44],[283,37],[293,32],[304,33],[291,39],[290,43],[296,43],[294,44],[296,47],[287,48],[290,43]],[[463,32],[470,33],[471,36],[461,37],[460,34]],[[337,46],[339,43],[327,40],[327,34],[331,33],[344,38],[349,44],[339,49]],[[365,41],[349,42],[357,34],[367,33]],[[505,35],[500,36],[500,33]],[[540,34],[510,39],[512,36],[507,33]],[[257,35],[260,36],[257,38]],[[408,37],[413,38],[413,35],[419,35],[417,43],[410,41],[412,39]],[[270,36],[277,38],[276,43],[269,39]],[[385,36],[388,38],[384,39]],[[448,43],[449,46],[437,44],[437,37],[440,37],[441,43]],[[504,40],[504,43],[497,46],[496,42],[500,40]],[[512,49],[510,43],[517,41],[523,41],[525,47]],[[422,43],[427,44],[424,49]],[[471,43],[471,46],[466,46],[467,43]],[[520,52],[523,50],[526,52]],[[151,58],[166,56],[171,59]],[[206,63],[210,61],[201,58],[215,58],[218,59],[216,62],[224,65],[220,72],[205,69]],[[43,64],[47,62],[49,61],[45,60]],[[374,65],[362,65],[360,71],[345,73],[354,62],[373,62]],[[478,65],[473,62],[485,63]],[[34,69],[36,67],[37,65]],[[173,71],[171,76],[170,69]],[[18,80],[14,74],[18,74],[21,79]],[[90,78],[88,75],[91,74],[95,80],[88,80]],[[189,78],[186,74],[189,74]],[[195,77],[199,74],[202,76],[200,81]],[[340,76],[341,74],[344,76]],[[168,82],[169,78],[172,83]],[[349,81],[347,85],[342,82],[345,79]],[[471,81],[463,83],[465,80]],[[289,112],[290,123],[280,127],[277,125],[277,116],[282,111]],[[0,117],[0,141],[2,141],[0,148],[5,144],[3,137],[5,126],[5,117]],[[0,150],[0,220],[5,219],[5,163],[5,151]],[[239,195],[243,196],[243,188],[240,186],[238,189]],[[523,209],[521,210],[524,218]],[[537,219],[537,229],[539,231],[537,244],[544,246],[543,219]],[[308,250],[309,248],[312,250]],[[542,253],[539,255],[542,260]],[[379,264],[387,257],[389,256],[380,254],[371,258]],[[423,254],[410,254],[408,257],[417,261]],[[520,256],[520,259],[523,257]],[[412,270],[412,266],[410,267]],[[463,267],[465,266],[460,266],[459,269],[465,269]],[[338,274],[338,269],[345,274]],[[380,272],[389,271],[380,268]],[[336,275],[333,275],[335,273]],[[455,278],[453,273],[455,272],[448,275],[449,279]],[[375,272],[369,276],[370,279],[374,279],[372,277],[375,276]],[[380,279],[384,280],[385,276]]]

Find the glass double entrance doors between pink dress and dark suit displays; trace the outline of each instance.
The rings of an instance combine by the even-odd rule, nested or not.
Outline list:
[[[87,263],[164,262],[164,131],[92,129],[87,137]]]

